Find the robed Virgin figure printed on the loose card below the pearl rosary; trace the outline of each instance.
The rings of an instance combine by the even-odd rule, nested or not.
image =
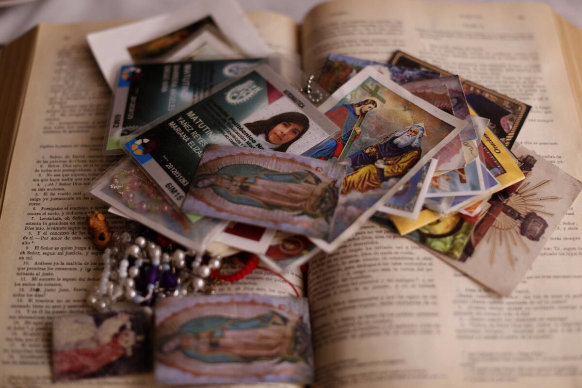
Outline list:
[[[161,354],[180,351],[208,363],[308,361],[309,333],[301,319],[271,311],[253,318],[203,316],[159,340]]]

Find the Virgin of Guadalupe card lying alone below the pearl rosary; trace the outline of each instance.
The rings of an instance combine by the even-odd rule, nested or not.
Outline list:
[[[314,379],[306,298],[196,296],[155,305],[159,384],[297,383]]]

